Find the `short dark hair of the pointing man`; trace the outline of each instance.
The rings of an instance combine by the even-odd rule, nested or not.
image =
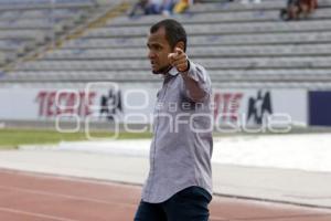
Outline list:
[[[157,32],[160,28],[164,28],[166,39],[168,40],[172,49],[175,46],[178,42],[182,41],[184,42],[184,52],[186,51],[186,43],[188,43],[186,32],[180,22],[173,19],[166,19],[159,21],[158,23],[153,24],[150,28],[150,33]]]

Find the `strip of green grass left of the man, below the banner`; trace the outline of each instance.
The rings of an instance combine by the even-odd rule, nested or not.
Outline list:
[[[114,134],[106,131],[92,133],[93,137],[107,138]],[[150,138],[149,133],[120,133],[118,139]],[[60,141],[87,140],[84,133],[58,133],[42,129],[0,129],[0,148],[17,148],[19,145],[57,144]]]

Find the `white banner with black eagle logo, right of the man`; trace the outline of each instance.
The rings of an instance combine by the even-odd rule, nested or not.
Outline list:
[[[216,125],[307,125],[305,90],[215,90],[213,96]]]

